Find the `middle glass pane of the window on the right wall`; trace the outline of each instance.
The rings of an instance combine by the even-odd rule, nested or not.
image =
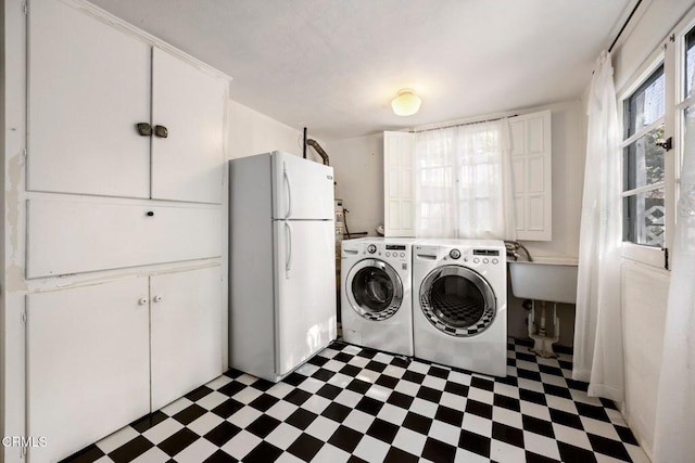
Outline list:
[[[665,151],[656,145],[662,138],[664,125],[622,150],[622,191],[664,181]]]

